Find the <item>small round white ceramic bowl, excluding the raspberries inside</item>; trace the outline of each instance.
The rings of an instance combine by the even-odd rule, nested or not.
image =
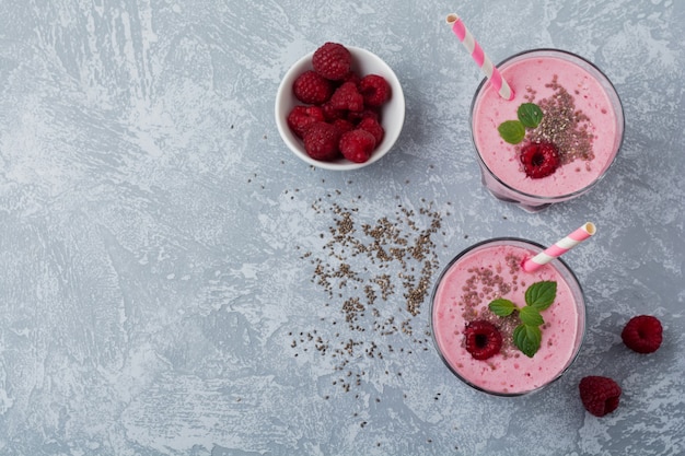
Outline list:
[[[303,104],[294,97],[292,93],[292,83],[298,75],[312,69],[313,51],[302,57],[290,68],[290,70],[288,70],[278,86],[278,92],[276,94],[276,126],[278,127],[278,132],[286,142],[286,145],[288,145],[288,148],[304,162],[325,169],[357,169],[378,162],[395,144],[405,120],[405,97],[395,72],[376,55],[359,47],[347,45],[345,45],[345,47],[348,48],[352,55],[353,71],[362,78],[367,74],[382,75],[390,84],[392,91],[391,98],[381,107],[381,125],[385,130],[385,136],[383,137],[383,141],[381,141],[381,143],[375,148],[371,157],[367,162],[353,163],[346,159],[339,159],[332,162],[314,160],[304,151],[302,140],[290,130],[290,127],[288,127],[288,113],[290,113],[294,106]]]

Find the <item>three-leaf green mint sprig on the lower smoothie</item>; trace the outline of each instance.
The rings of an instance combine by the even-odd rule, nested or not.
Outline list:
[[[529,358],[533,358],[543,339],[539,328],[545,324],[541,312],[547,309],[557,296],[557,282],[535,282],[525,290],[525,306],[518,307],[512,301],[499,297],[488,304],[488,308],[495,315],[508,317],[514,311],[519,313],[521,324],[513,330],[513,342],[519,350]]]

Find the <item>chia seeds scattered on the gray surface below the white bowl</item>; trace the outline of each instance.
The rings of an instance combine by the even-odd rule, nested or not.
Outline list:
[[[328,199],[340,200],[339,190],[332,194]],[[312,282],[327,296],[322,305],[339,308],[340,321],[345,323],[338,325],[342,326],[341,330],[332,334],[328,340],[321,335],[312,338],[301,335],[291,342],[295,356],[313,346],[321,355],[334,360],[335,370],[346,371],[349,381],[333,381],[345,393],[370,378],[369,364],[386,356],[402,356],[404,362],[411,355],[414,350],[393,348],[400,343],[400,338],[410,337],[409,343],[421,347],[429,343],[428,324],[421,320],[426,329],[419,330],[415,330],[414,324],[439,268],[433,237],[441,233],[442,214],[431,202],[421,200],[421,207],[416,210],[398,203],[393,215],[382,215],[371,223],[360,215],[361,200],[361,197],[352,198],[345,207],[317,198],[311,204],[317,215],[332,215],[332,223],[321,233],[320,238],[324,239],[321,249],[302,249],[300,258],[310,262]],[[333,328],[338,319],[328,314],[320,320]],[[402,376],[402,373],[393,375]]]

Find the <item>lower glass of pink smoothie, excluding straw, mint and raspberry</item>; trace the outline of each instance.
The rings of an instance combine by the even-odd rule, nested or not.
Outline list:
[[[466,248],[441,273],[431,302],[432,336],[444,363],[467,385],[492,395],[521,396],[549,385],[578,355],[585,331],[582,289],[558,258],[535,272],[523,271],[523,260],[542,250],[530,241],[498,237]],[[489,303],[503,299],[525,306],[526,290],[538,282],[556,282],[556,295],[539,312],[542,340],[529,356],[514,342],[519,312],[501,317]],[[474,321],[488,321],[501,336],[501,348],[487,359],[467,350],[466,328]]]

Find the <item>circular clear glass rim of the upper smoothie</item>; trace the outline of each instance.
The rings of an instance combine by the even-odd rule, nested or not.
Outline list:
[[[485,167],[485,169],[487,169],[488,174],[490,175],[490,177],[492,177],[495,180],[497,180],[497,183],[499,185],[501,185],[502,187],[507,188],[508,190],[516,194],[516,195],[521,195],[527,199],[532,199],[535,200],[535,203],[539,203],[539,204],[544,204],[544,203],[554,203],[554,202],[560,202],[560,201],[565,201],[568,199],[572,199],[576,198],[584,192],[587,192],[588,190],[590,190],[592,187],[594,187],[597,183],[600,183],[600,180],[602,180],[604,178],[604,176],[606,176],[606,174],[608,173],[609,168],[614,165],[614,163],[616,163],[616,157],[618,156],[618,152],[620,151],[620,148],[623,147],[623,142],[625,140],[626,137],[626,116],[625,116],[625,110],[623,107],[623,101],[620,100],[620,96],[618,95],[618,91],[616,90],[616,86],[614,85],[614,83],[612,82],[611,79],[608,79],[608,77],[604,73],[604,71],[602,71],[600,69],[600,67],[597,67],[596,65],[594,65],[593,62],[591,62],[590,60],[585,59],[584,57],[579,56],[578,54],[571,52],[569,50],[564,50],[564,49],[555,49],[555,48],[550,48],[550,47],[539,47],[539,48],[534,48],[534,49],[527,49],[527,50],[522,50],[520,52],[513,54],[509,57],[507,57],[506,59],[503,59],[502,61],[500,61],[499,63],[496,65],[497,68],[500,68],[501,66],[508,63],[509,61],[516,59],[519,57],[522,56],[526,56],[529,54],[534,54],[534,52],[552,52],[552,54],[558,54],[558,55],[562,55],[566,56],[567,58],[570,57],[571,61],[572,59],[577,59],[580,60],[581,62],[590,66],[590,68],[595,71],[601,79],[606,82],[607,86],[603,87],[605,89],[605,92],[607,94],[607,96],[609,97],[609,101],[612,100],[612,94],[613,96],[616,97],[616,104],[618,109],[616,109],[616,107],[614,106],[614,109],[616,112],[616,117],[620,117],[620,121],[617,122],[617,126],[620,127],[620,139],[618,140],[618,144],[616,144],[616,152],[614,153],[614,156],[612,157],[611,162],[607,164],[607,166],[605,167],[605,169],[602,172],[602,174],[600,174],[594,180],[592,180],[590,184],[588,184],[587,186],[576,190],[576,191],[571,191],[569,194],[564,194],[564,195],[557,195],[557,196],[541,196],[541,195],[533,195],[533,194],[529,194],[526,191],[522,191],[515,187],[512,187],[511,185],[507,184],[506,182],[503,182],[502,179],[499,178],[499,176],[497,176],[495,173],[492,173],[492,171],[490,169],[490,167],[487,165],[487,163],[485,163],[485,160],[483,160],[483,156],[480,155],[480,151],[478,150],[478,147],[476,145],[476,138],[474,135],[474,108],[476,106],[476,101],[478,100],[480,93],[483,92],[483,89],[485,87],[485,84],[488,82],[488,78],[484,78],[480,83],[478,84],[478,86],[476,87],[476,92],[474,93],[474,97],[472,98],[471,102],[471,110],[468,114],[468,124],[471,127],[471,140],[473,142],[474,149],[476,150],[476,156],[478,157],[478,162],[480,163],[480,165],[483,167]],[[611,89],[611,92],[607,90]],[[614,103],[612,103],[612,105],[614,105]]]

